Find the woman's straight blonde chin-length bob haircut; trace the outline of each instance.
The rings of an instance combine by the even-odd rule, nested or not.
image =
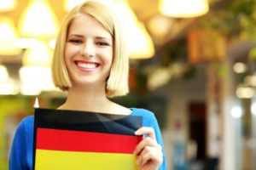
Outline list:
[[[115,18],[113,10],[108,7],[108,5],[96,1],[88,1],[73,8],[62,21],[61,30],[56,39],[55,52],[51,66],[55,86],[61,88],[63,91],[67,91],[72,87],[72,82],[67,73],[64,54],[68,28],[72,20],[80,14],[90,14],[90,16],[100,22],[113,37],[113,62],[109,77],[106,81],[106,95],[108,97],[114,97],[128,94],[129,58],[119,20]]]

